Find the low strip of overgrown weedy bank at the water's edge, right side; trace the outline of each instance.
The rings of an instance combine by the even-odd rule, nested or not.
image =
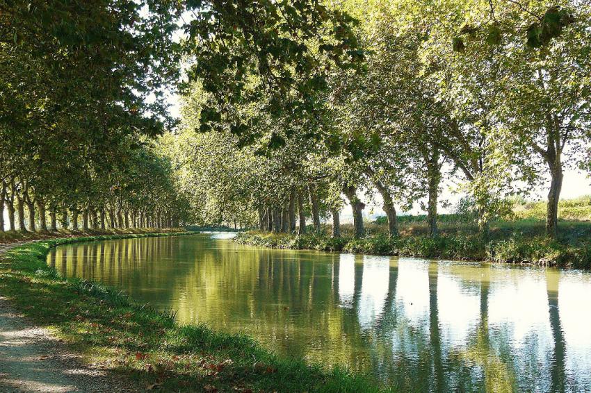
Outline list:
[[[350,236],[291,235],[250,231],[238,233],[234,241],[274,249],[311,249],[382,256],[413,256],[448,260],[485,260],[515,264],[591,269],[591,244],[569,244],[549,240],[541,235],[511,235],[504,240],[483,242],[478,235],[446,234],[432,238],[426,235],[368,235],[362,239]]]

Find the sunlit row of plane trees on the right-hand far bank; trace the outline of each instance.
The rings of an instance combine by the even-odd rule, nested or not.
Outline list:
[[[423,201],[437,235],[447,178],[469,194],[487,235],[512,196],[549,181],[546,228],[556,237],[563,169],[589,167],[589,3],[349,0],[338,10],[357,21],[351,44],[363,61],[335,67],[327,42],[305,52],[327,72],[309,102],[295,87],[261,89],[255,74],[241,97],[191,85],[163,144],[202,219],[276,232],[299,222],[301,233],[307,217],[318,230],[324,215],[338,236],[347,202],[362,236],[362,198],[380,194],[391,235],[397,209]],[[302,77],[289,67],[273,75]]]

